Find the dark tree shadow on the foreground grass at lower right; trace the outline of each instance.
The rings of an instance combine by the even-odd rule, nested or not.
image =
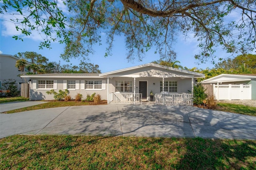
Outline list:
[[[255,169],[256,142],[252,140],[188,139],[177,169]]]

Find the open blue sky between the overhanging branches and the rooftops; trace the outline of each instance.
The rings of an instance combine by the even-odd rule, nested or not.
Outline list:
[[[64,7],[63,7],[64,8]],[[237,13],[233,13],[233,18],[237,17]],[[9,20],[9,16],[1,15],[1,24],[0,24],[0,53],[14,55],[18,52],[26,52],[26,51],[34,51],[39,53],[49,59],[49,61],[60,61],[61,64],[72,64],[79,65],[80,59],[71,59],[70,63],[66,63],[60,58],[60,54],[64,51],[64,45],[59,44],[58,42],[52,43],[52,49],[39,49],[40,40],[42,37],[38,35],[38,32],[32,32],[32,36],[25,37],[24,41],[15,40],[12,36],[17,35],[19,33],[16,31],[14,24],[11,22],[6,22]],[[148,51],[143,61],[130,61],[126,59],[126,48],[125,48],[125,40],[124,37],[116,36],[114,47],[112,49],[112,56],[104,57],[105,49],[106,49],[106,38],[105,34],[102,34],[102,44],[101,46],[95,45],[93,55],[89,55],[90,61],[89,63],[98,64],[102,73],[113,71],[117,69],[122,69],[126,67],[132,67],[136,65],[141,65],[145,63],[150,63],[152,61],[158,60],[159,55],[154,53],[154,49]],[[193,34],[189,36],[189,38],[185,38],[180,35],[178,37],[177,43],[174,46],[174,50],[177,53],[176,60],[180,61],[180,65],[183,67],[193,68],[197,67],[198,69],[205,69],[206,67],[212,68],[214,65],[211,61],[208,61],[204,64],[198,65],[198,61],[194,59],[194,55],[198,54],[199,48],[197,47],[198,42],[196,38],[193,37]],[[216,52],[218,57],[226,58],[229,57],[230,54],[227,54],[221,50]],[[216,58],[216,63],[218,62],[218,57]]]

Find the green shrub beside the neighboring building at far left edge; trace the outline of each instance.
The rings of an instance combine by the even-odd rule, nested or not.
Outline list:
[[[16,83],[16,80],[4,80],[1,83],[1,90],[10,90],[9,93],[0,93],[0,96],[5,96],[5,97],[17,97],[20,95],[20,91],[18,91],[18,85]]]

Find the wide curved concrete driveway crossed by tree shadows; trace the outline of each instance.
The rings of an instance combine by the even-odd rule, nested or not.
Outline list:
[[[256,140],[256,117],[188,105],[72,106],[0,114],[0,138],[13,134]]]

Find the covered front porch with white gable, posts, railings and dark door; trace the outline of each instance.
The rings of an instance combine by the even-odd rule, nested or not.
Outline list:
[[[100,76],[108,81],[109,104],[142,104],[153,94],[156,104],[192,105],[195,78],[204,75],[149,63]]]

